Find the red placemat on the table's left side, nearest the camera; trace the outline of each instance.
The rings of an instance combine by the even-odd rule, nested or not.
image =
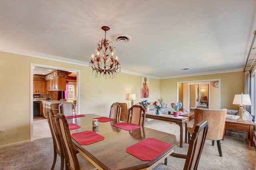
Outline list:
[[[95,133],[93,131],[73,133],[71,137],[80,145],[90,145],[92,143],[103,141],[105,139],[102,135],[99,135],[98,133]]]

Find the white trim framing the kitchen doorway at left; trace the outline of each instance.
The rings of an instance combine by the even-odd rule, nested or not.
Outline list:
[[[69,71],[74,71],[77,72],[76,74],[76,113],[80,114],[80,70],[74,70],[74,69],[70,69],[70,68],[61,68],[61,67],[55,67],[55,66],[48,66],[48,65],[42,65],[42,64],[34,64],[34,63],[30,63],[30,141],[34,141],[34,137],[33,137],[33,123],[34,123],[34,119],[33,119],[33,67],[34,66],[38,66],[38,67],[44,67],[44,68],[53,68],[56,70],[69,70]]]

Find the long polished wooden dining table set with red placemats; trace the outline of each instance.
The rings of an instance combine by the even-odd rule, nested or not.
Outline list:
[[[176,147],[175,135],[142,126],[132,131],[126,131],[113,126],[115,123],[122,122],[118,120],[104,123],[98,122],[98,127],[92,127],[92,119],[96,117],[102,116],[85,114],[85,117],[67,119],[67,121],[81,126],[79,129],[71,130],[71,134],[94,131],[105,138],[103,141],[90,145],[80,145],[72,139],[76,149],[99,170],[150,170],[167,158]],[[151,161],[142,161],[126,152],[127,147],[146,138],[154,138],[166,142],[170,145],[170,148]]]

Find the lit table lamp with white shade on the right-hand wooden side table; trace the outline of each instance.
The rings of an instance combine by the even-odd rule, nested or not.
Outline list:
[[[239,118],[237,121],[244,121],[244,105],[252,105],[249,94],[235,94],[233,104],[238,104],[239,106]]]

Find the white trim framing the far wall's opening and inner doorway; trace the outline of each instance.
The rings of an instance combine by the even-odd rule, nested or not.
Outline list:
[[[219,79],[210,79],[210,80],[192,80],[192,81],[182,81],[182,82],[177,82],[177,90],[176,90],[176,101],[178,102],[179,100],[179,83],[190,83],[190,82],[211,82],[211,81],[219,81],[219,109],[220,109],[220,104],[221,104],[221,80],[220,78]],[[202,83],[204,84],[204,83]],[[209,89],[210,89],[210,86],[209,86]],[[209,90],[210,91],[210,90]],[[188,92],[190,92],[190,89],[188,89]],[[209,92],[209,98],[210,98],[210,92]],[[190,95],[188,95],[188,106],[190,107]],[[210,108],[210,103],[209,103],[209,106],[208,108]]]

